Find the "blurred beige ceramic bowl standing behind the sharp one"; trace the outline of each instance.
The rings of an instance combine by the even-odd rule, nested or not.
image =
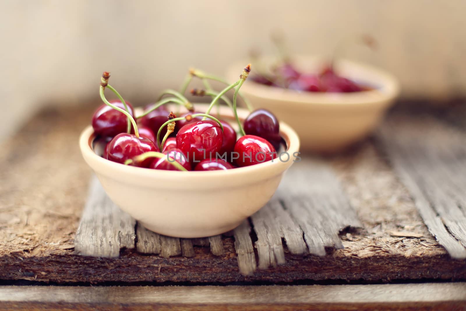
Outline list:
[[[228,81],[238,79],[238,68],[242,68],[243,63],[227,70]],[[295,59],[295,64],[305,72],[319,72],[324,63],[320,57],[302,56]],[[264,64],[267,64],[267,59]],[[302,150],[335,152],[370,134],[399,93],[396,78],[369,65],[339,60],[336,69],[344,77],[371,86],[374,90],[355,93],[298,92],[248,80],[241,91],[254,108],[268,109],[279,120],[290,124],[298,133]]]

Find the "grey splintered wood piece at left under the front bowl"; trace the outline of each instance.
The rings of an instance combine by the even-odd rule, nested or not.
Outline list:
[[[136,220],[113,204],[94,177],[81,222],[75,251],[83,256],[118,257],[120,248],[134,248]]]

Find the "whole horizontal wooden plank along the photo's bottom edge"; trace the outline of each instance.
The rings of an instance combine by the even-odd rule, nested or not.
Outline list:
[[[168,286],[0,287],[0,310],[464,310],[465,283]]]

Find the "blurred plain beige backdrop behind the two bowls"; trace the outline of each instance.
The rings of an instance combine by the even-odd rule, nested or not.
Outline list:
[[[42,105],[97,100],[103,70],[139,105],[190,66],[223,74],[252,47],[273,53],[274,29],[292,52],[326,55],[370,33],[376,53],[349,46],[345,57],[391,71],[405,97],[464,95],[465,12],[461,0],[1,0],[0,140]]]

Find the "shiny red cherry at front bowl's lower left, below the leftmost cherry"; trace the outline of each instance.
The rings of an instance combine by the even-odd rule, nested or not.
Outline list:
[[[113,162],[123,163],[128,159],[133,159],[149,151],[158,151],[156,145],[148,138],[139,137],[133,134],[121,133],[115,136],[109,144],[108,159]],[[153,159],[148,158],[142,163],[132,163],[131,165],[148,167]]]

